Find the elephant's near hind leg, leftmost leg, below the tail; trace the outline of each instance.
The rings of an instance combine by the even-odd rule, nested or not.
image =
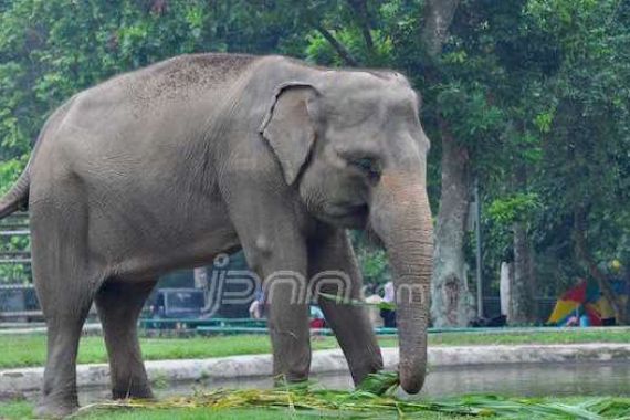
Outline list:
[[[31,212],[33,282],[48,326],[48,355],[38,417],[63,417],[78,408],[76,355],[83,324],[102,277],[90,267],[83,238],[87,216],[78,200],[64,212]]]

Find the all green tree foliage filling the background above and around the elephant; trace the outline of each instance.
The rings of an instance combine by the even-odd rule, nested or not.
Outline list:
[[[461,1],[437,60],[421,41],[422,0],[367,1],[365,10],[360,3],[0,1],[0,192],[27,165],[46,116],[76,92],[191,52],[284,53],[348,65],[327,32],[358,65],[400,70],[422,93],[433,209],[439,122],[465,146],[487,209],[486,277],[496,279],[511,253],[514,222],[527,222],[539,274],[585,275],[573,252],[578,206],[597,262],[630,265],[628,1]],[[385,252],[363,237],[354,242],[364,276],[384,282]]]

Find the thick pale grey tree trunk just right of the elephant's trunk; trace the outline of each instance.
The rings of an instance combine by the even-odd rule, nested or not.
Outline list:
[[[431,281],[433,325],[468,326],[474,297],[464,276],[464,237],[470,204],[469,154],[441,120],[442,192],[435,227]]]

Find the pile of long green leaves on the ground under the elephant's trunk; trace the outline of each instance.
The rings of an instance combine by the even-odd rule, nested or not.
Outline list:
[[[381,372],[369,376],[355,391],[329,390],[313,384],[270,390],[217,389],[198,391],[192,397],[159,402],[122,401],[99,403],[82,412],[101,409],[283,409],[342,418],[405,417],[422,419],[427,413],[447,416],[531,417],[545,419],[611,419],[630,416],[628,398],[592,398],[576,403],[546,399],[505,398],[491,395],[464,396],[440,400],[410,400],[393,395],[398,375]]]

